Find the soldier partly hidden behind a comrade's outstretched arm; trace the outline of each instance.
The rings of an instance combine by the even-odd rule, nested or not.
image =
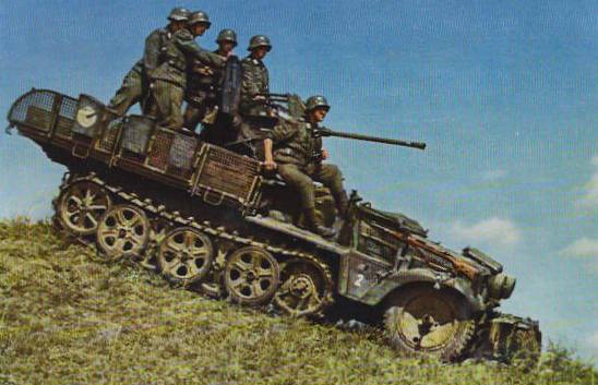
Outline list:
[[[218,49],[214,53],[226,59],[237,46],[237,33],[232,29],[223,29],[218,34],[216,43]],[[189,84],[186,92],[188,105],[184,110],[183,127],[195,131],[206,113],[216,106],[216,95],[224,73],[220,69],[212,69],[203,64],[192,65],[188,71]]]

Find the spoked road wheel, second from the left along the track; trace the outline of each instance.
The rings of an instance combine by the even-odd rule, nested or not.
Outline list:
[[[118,205],[104,214],[96,233],[98,249],[108,260],[137,257],[150,241],[150,221],[141,208]]]

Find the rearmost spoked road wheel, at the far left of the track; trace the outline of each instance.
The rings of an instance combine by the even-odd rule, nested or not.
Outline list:
[[[111,205],[110,194],[103,187],[91,181],[75,182],[60,193],[57,219],[69,234],[89,236]]]

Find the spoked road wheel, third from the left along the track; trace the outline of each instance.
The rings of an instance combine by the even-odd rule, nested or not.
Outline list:
[[[214,246],[198,229],[179,227],[162,240],[157,261],[167,279],[188,285],[205,278],[214,261]]]

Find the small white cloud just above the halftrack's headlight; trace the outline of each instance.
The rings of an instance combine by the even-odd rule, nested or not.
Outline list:
[[[522,231],[513,221],[495,217],[469,226],[456,221],[448,229],[448,233],[463,242],[483,242],[500,246],[514,245],[522,239]]]

